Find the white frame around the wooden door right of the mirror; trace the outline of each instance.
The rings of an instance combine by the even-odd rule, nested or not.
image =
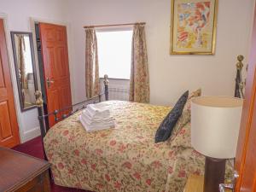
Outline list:
[[[37,78],[38,78],[38,90],[41,90],[41,84],[40,84],[40,73],[39,73],[39,64],[38,64],[38,50],[37,50],[37,39],[36,39],[36,23],[49,23],[59,26],[66,26],[67,29],[67,52],[68,52],[68,68],[69,68],[69,76],[70,76],[70,90],[71,90],[71,97],[72,97],[72,103],[74,103],[74,75],[73,75],[73,44],[72,44],[72,32],[71,32],[71,25],[68,22],[58,21],[58,20],[49,20],[44,18],[38,18],[38,17],[30,17],[30,26],[32,31],[32,39],[33,39],[33,45],[34,45],[34,52],[35,52],[35,60],[36,60],[36,70],[37,70]]]

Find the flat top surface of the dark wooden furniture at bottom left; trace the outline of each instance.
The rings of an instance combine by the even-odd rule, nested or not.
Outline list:
[[[0,191],[13,191],[49,169],[49,162],[0,148]]]

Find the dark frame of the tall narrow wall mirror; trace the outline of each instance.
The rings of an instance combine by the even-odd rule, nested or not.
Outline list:
[[[34,86],[35,91],[38,90],[38,78],[37,78],[37,68],[36,68],[36,62],[35,62],[35,53],[34,53],[34,46],[33,46],[33,39],[32,39],[32,32],[10,32],[11,34],[11,40],[12,40],[12,46],[13,46],[13,54],[15,59],[15,73],[16,73],[16,81],[18,86],[18,92],[19,92],[19,100],[20,100],[20,110],[21,112],[25,112],[27,110],[30,110],[32,108],[37,108],[36,104],[24,108],[24,103],[22,101],[22,88],[20,86],[20,76],[19,76],[19,69],[18,69],[18,63],[17,63],[17,53],[16,53],[16,44],[15,44],[15,35],[28,35],[29,37],[29,43],[30,43],[30,49],[31,49],[31,59],[32,59],[32,69],[33,69],[33,79],[34,79]]]

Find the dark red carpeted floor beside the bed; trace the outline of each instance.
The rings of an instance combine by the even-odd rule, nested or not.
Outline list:
[[[41,142],[41,137],[36,137],[26,143],[22,143],[16,146],[13,149],[16,151],[20,151],[24,154],[29,154],[44,160],[43,144]],[[52,192],[90,192],[82,189],[71,189],[71,188],[64,188],[61,186],[57,186],[53,181],[51,182],[51,191]]]

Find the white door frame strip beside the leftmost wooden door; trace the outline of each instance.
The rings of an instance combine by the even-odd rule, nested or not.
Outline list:
[[[23,132],[20,129],[21,124],[21,111],[20,111],[20,98],[19,98],[19,91],[18,91],[18,85],[17,85],[17,79],[16,79],[16,72],[15,72],[15,60],[14,60],[14,53],[13,49],[11,47],[11,38],[10,38],[10,30],[9,30],[9,17],[5,13],[0,13],[0,19],[3,20],[3,27],[4,27],[4,33],[5,33],[5,39],[6,39],[6,46],[7,46],[7,55],[9,60],[9,73],[11,76],[11,84],[13,87],[14,92],[14,100],[15,100],[15,112],[17,117],[17,123],[18,123],[18,129],[19,129],[19,137],[20,137],[20,143],[22,143],[26,138],[23,136]]]

